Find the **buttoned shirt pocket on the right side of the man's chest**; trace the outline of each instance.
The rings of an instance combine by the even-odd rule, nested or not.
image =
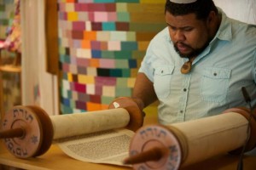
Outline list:
[[[201,78],[201,99],[208,102],[226,101],[230,82],[230,69],[207,68]]]

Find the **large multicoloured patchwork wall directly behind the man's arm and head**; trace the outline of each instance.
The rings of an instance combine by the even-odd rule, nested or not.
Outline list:
[[[59,0],[61,112],[108,109],[131,96],[165,0]]]

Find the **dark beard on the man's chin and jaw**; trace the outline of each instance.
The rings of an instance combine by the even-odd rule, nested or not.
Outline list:
[[[207,46],[209,45],[210,41],[211,41],[211,40],[208,40],[208,41],[203,45],[203,47],[197,48],[197,49],[191,48],[189,45],[187,45],[187,44],[185,44],[185,43],[183,43],[183,42],[175,42],[175,43],[173,43],[173,46],[174,46],[174,48],[175,48],[177,54],[179,54],[179,56],[180,56],[181,58],[188,58],[188,59],[190,59],[190,58],[196,57],[197,55],[201,54],[201,52],[203,52],[203,51],[205,50],[205,48],[207,48]],[[179,51],[178,48],[177,48],[177,43],[181,43],[183,46],[192,49],[192,51],[191,51],[189,54],[181,54],[180,51]]]

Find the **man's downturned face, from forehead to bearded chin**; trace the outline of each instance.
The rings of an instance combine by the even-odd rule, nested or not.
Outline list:
[[[205,20],[197,20],[195,14],[174,16],[166,12],[166,24],[174,48],[183,58],[196,57],[210,42],[210,26]]]

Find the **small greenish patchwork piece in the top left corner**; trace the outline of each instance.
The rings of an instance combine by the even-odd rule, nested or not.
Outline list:
[[[14,0],[0,0],[0,39],[6,38],[6,31],[15,16]]]

